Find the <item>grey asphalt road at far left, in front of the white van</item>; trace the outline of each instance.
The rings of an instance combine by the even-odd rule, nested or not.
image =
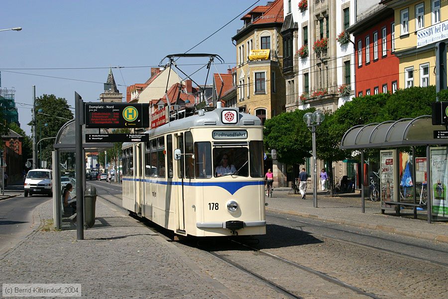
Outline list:
[[[51,197],[21,195],[0,201],[0,254],[29,234],[34,225],[34,208],[47,200]]]

